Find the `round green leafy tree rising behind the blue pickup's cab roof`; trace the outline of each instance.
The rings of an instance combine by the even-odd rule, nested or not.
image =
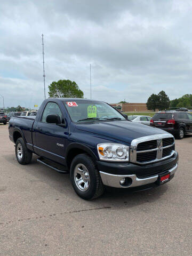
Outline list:
[[[83,95],[78,85],[70,80],[59,80],[49,85],[50,98],[83,98]]]

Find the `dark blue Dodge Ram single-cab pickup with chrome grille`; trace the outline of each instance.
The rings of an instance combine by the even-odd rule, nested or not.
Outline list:
[[[133,123],[105,102],[46,99],[37,116],[12,117],[10,140],[20,164],[38,162],[70,173],[84,199],[115,188],[159,186],[174,177],[178,153],[170,133]]]

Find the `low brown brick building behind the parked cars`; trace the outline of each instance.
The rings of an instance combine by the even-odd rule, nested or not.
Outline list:
[[[119,111],[134,112],[134,111],[149,111],[146,103],[111,103],[111,106],[115,107]]]

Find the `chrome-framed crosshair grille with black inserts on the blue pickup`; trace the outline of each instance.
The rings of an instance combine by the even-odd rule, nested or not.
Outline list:
[[[147,164],[162,161],[174,154],[174,137],[171,134],[155,134],[134,139],[130,147],[130,161]]]

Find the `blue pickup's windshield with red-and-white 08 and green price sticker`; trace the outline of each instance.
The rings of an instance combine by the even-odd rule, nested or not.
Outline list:
[[[105,102],[91,100],[63,101],[74,122],[126,120],[117,110]]]

